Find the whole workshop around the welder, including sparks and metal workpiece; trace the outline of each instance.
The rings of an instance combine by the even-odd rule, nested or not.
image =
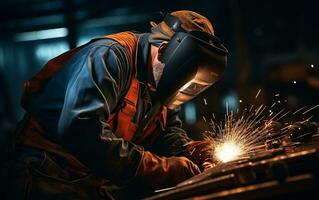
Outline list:
[[[176,10],[207,17],[229,52],[220,80],[182,104],[179,114],[188,137],[214,141],[216,163],[136,198],[317,199],[318,5],[310,0],[1,0],[0,199],[10,199],[14,132],[26,112],[24,83],[70,49],[113,33],[150,32],[150,22]]]

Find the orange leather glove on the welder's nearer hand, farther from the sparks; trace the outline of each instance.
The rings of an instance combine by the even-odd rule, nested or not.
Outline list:
[[[137,170],[143,184],[159,189],[175,186],[200,173],[196,164],[186,157],[159,157],[145,151]]]

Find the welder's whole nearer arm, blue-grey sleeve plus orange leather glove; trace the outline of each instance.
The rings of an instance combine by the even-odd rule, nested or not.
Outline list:
[[[197,174],[197,166],[186,158],[146,152],[116,137],[106,123],[130,85],[125,56],[120,46],[100,46],[79,66],[81,70],[67,88],[59,120],[62,144],[93,173],[111,181],[137,179],[151,188],[175,185]]]

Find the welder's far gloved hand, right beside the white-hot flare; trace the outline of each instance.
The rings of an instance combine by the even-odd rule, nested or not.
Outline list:
[[[186,144],[187,157],[196,163],[202,171],[215,166],[214,144],[211,140],[191,141]]]

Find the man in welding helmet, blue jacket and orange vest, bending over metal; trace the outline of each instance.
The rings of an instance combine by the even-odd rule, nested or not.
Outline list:
[[[93,39],[25,83],[12,199],[139,198],[212,167],[213,144],[178,114],[219,79],[227,49],[192,11],[151,25]]]

